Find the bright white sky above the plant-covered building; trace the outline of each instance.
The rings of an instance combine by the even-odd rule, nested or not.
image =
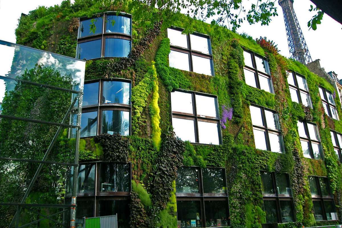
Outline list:
[[[15,43],[14,31],[18,24],[18,18],[21,13],[27,14],[30,10],[36,9],[39,5],[52,6],[60,4],[62,0],[0,0],[0,21],[2,28],[0,40],[5,40]],[[73,1],[71,1],[73,2]],[[253,1],[247,1],[251,3]],[[278,16],[272,17],[272,22],[268,26],[261,24],[249,25],[247,22],[238,28],[237,32],[245,32],[255,38],[267,37],[278,44],[280,54],[290,57],[285,31],[284,17],[278,1],[277,6]],[[342,79],[342,64],[340,53],[342,53],[342,25],[327,14],[324,15],[322,23],[317,26],[317,30],[309,30],[307,22],[314,15],[309,12],[310,5],[313,3],[310,0],[294,0],[293,8],[297,15],[299,24],[303,31],[306,44],[310,51],[313,60],[320,59],[321,67],[324,67],[327,72],[334,71],[338,77]]]

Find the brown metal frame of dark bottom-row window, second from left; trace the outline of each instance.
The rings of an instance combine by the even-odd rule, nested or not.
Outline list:
[[[224,167],[214,167],[214,166],[207,166],[204,169],[220,169],[223,171],[223,182],[226,187],[226,193],[204,193],[203,192],[203,178],[202,178],[202,168],[199,166],[183,166],[190,169],[197,169],[198,172],[198,189],[199,193],[177,193],[176,192],[176,201],[200,201],[200,210],[201,210],[201,221],[202,227],[206,227],[206,213],[205,213],[205,201],[213,201],[213,200],[220,200],[220,201],[227,201],[227,219],[228,225],[230,225],[230,213],[229,213],[229,198],[228,198],[228,189],[227,189],[227,174],[226,169]],[[178,219],[178,216],[177,216]],[[224,226],[220,226],[224,227]]]

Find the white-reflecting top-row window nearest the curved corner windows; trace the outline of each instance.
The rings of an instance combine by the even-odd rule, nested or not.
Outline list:
[[[168,28],[171,52],[169,66],[180,70],[214,75],[210,37],[194,32],[182,34],[181,28]]]

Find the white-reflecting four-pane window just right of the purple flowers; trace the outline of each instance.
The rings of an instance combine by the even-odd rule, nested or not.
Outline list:
[[[257,105],[251,105],[249,109],[253,124],[255,148],[283,153],[285,149],[277,113]]]

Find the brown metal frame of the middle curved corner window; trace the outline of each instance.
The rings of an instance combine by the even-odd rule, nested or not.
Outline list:
[[[102,103],[102,97],[103,97],[103,82],[104,81],[119,81],[119,82],[127,82],[130,83],[130,104],[119,104],[119,103],[111,103],[111,104],[103,104]],[[109,78],[109,79],[94,79],[94,80],[88,80],[85,81],[84,84],[88,83],[94,83],[98,82],[98,99],[97,104],[94,105],[87,105],[82,106],[82,113],[86,112],[93,112],[97,111],[97,129],[96,129],[96,135],[102,134],[102,111],[106,110],[118,110],[118,111],[127,111],[130,113],[129,117],[129,135],[131,135],[131,123],[132,123],[132,81],[129,79],[123,79],[123,78]],[[95,135],[94,135],[95,136]],[[87,137],[94,137],[94,136],[86,136],[81,138],[87,138]]]

